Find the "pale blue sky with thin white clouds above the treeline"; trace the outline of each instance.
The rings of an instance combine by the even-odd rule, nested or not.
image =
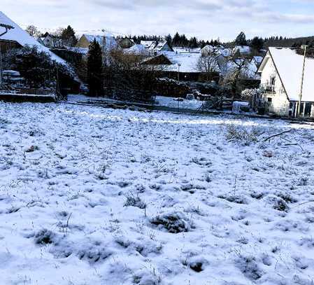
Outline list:
[[[231,41],[313,36],[314,0],[1,0],[1,11],[42,32],[71,25],[78,34],[186,34]]]

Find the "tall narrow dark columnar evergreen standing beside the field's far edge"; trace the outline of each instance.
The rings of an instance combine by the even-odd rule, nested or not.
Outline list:
[[[101,96],[104,92],[103,58],[96,39],[90,44],[87,60],[87,81],[90,96]]]

